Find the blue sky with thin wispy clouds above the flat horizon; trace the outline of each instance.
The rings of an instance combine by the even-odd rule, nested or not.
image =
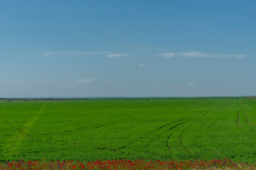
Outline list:
[[[1,1],[0,96],[256,95],[256,1]]]

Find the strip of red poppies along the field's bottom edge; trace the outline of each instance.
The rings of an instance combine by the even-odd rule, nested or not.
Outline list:
[[[1,162],[0,169],[3,170],[21,170],[21,169],[256,169],[255,164],[244,164],[242,162],[233,162],[230,159],[221,160],[184,160],[181,162],[171,161],[151,161],[151,160],[97,160],[93,162],[78,161],[29,161],[24,162]]]

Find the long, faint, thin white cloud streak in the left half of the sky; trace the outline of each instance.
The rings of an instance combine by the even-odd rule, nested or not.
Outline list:
[[[110,54],[111,52],[79,52],[79,51],[66,51],[66,52],[43,52],[43,56],[45,57],[80,57],[80,56],[87,56],[87,55],[106,55]]]

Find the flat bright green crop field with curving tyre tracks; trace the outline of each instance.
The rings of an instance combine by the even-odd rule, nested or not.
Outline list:
[[[256,157],[255,99],[1,102],[0,116],[0,161]]]

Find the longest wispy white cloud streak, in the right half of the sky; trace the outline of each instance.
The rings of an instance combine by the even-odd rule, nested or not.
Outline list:
[[[242,58],[246,55],[235,54],[235,55],[212,55],[206,54],[202,52],[165,52],[162,54],[158,54],[163,56],[164,58],[173,58],[173,57],[205,57],[205,58],[225,58],[225,57],[234,57],[234,58]]]

